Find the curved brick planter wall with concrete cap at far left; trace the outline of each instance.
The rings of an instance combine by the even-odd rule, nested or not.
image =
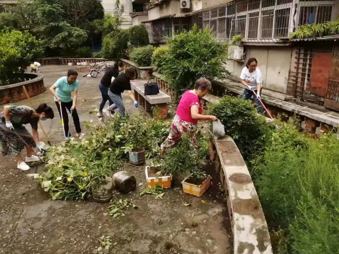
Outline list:
[[[43,93],[46,91],[43,77],[41,73],[25,73],[26,81],[0,86],[0,105],[27,99],[22,86],[26,87],[30,97]]]

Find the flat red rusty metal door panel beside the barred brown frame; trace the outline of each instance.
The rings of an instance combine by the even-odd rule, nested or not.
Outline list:
[[[310,92],[312,94],[326,96],[331,60],[331,54],[313,53],[310,76]]]

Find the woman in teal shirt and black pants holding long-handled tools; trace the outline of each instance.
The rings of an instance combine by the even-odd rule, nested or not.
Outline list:
[[[77,80],[78,72],[76,70],[69,69],[67,71],[67,77],[62,77],[55,82],[53,86],[49,88],[49,90],[54,95],[54,101],[57,105],[60,118],[60,102],[61,102],[61,111],[62,111],[62,118],[64,121],[64,130],[65,135],[68,134],[68,114],[66,109],[69,112],[73,110],[72,117],[75,126],[75,130],[77,132],[76,136],[84,136],[85,134],[81,132],[80,127],[80,120],[75,108],[78,98],[78,87],[79,81]],[[73,91],[73,98],[72,98],[72,91]]]

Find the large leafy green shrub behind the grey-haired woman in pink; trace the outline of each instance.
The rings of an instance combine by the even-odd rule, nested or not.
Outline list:
[[[227,45],[217,42],[212,30],[199,30],[195,25],[173,36],[167,45],[169,58],[163,73],[176,90],[191,87],[200,77],[223,78],[228,73],[223,66]]]

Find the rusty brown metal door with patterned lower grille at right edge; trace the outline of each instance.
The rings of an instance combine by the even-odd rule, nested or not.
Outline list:
[[[339,110],[339,44],[333,46],[324,106],[326,108]]]

